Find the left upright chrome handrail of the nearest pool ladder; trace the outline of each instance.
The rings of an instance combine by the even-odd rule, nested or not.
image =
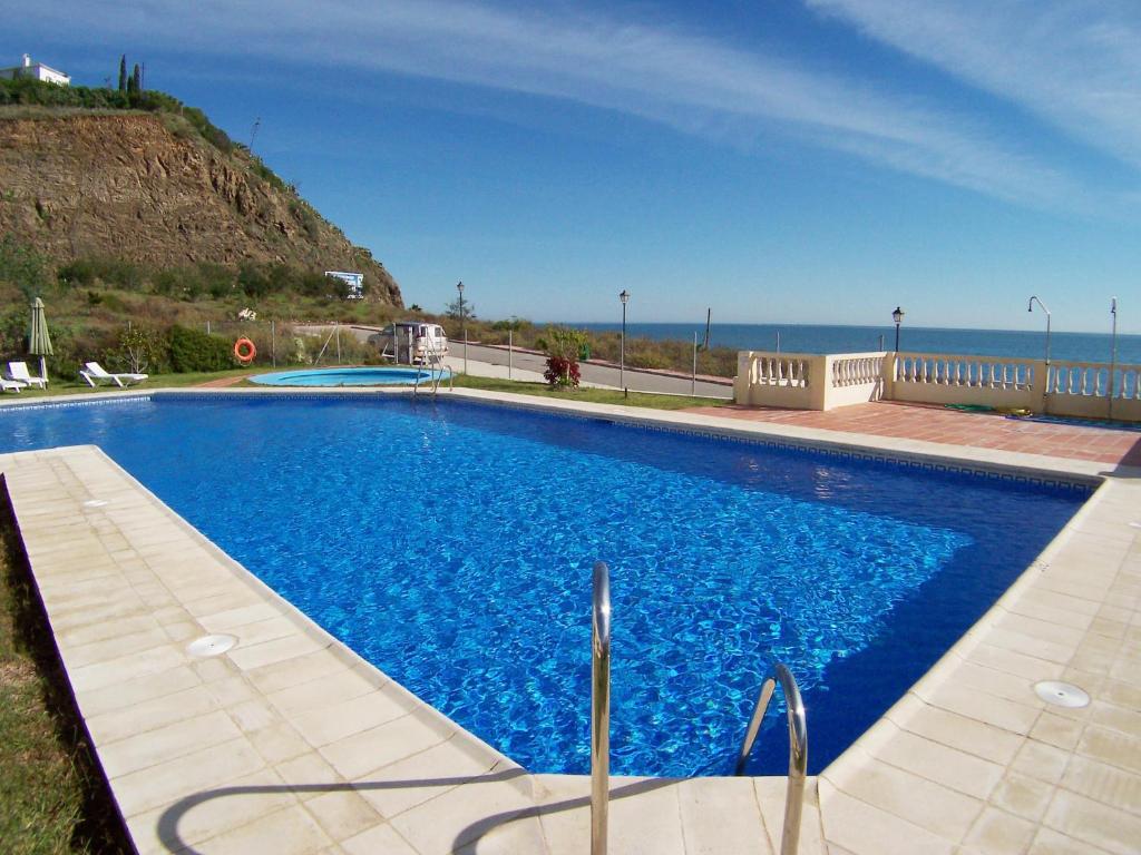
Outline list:
[[[606,855],[610,779],[610,569],[594,563],[590,690],[590,852]]]

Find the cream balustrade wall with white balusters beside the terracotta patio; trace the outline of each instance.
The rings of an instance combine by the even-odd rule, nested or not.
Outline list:
[[[981,405],[1141,421],[1141,366],[954,353],[774,353],[737,357],[746,406],[833,409],[880,399]]]

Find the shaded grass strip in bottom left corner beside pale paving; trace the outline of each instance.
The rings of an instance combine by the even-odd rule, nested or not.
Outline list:
[[[127,853],[0,482],[0,840],[14,855]]]

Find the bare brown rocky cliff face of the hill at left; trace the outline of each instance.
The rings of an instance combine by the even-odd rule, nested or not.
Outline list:
[[[58,263],[284,262],[365,275],[402,307],[383,264],[240,147],[171,113],[0,107],[0,235]]]

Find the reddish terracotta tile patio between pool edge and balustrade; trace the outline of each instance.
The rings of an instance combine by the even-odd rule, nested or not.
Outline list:
[[[1076,461],[1141,466],[1141,432],[1051,424],[993,413],[876,401],[827,413],[771,407],[696,407],[686,410],[748,422],[791,424],[827,431],[901,437],[928,442],[995,448]]]

